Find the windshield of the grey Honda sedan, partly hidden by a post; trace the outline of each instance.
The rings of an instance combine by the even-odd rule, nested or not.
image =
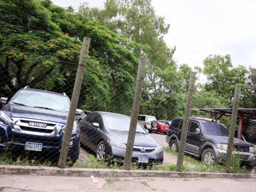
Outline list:
[[[105,115],[103,116],[105,128],[111,131],[129,131],[130,117],[118,115]],[[137,122],[136,132],[147,134],[145,129]]]

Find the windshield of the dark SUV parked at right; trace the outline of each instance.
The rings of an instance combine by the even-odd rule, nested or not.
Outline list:
[[[218,122],[202,122],[204,131],[207,135],[227,136],[229,129]]]

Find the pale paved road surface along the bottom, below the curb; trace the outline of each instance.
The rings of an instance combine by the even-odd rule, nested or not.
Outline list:
[[[254,179],[211,179],[211,178],[96,178],[90,177],[0,175],[0,192],[255,192]]]

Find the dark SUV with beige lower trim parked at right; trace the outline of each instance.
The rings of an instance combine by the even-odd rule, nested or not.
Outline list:
[[[166,135],[166,142],[172,150],[179,149],[183,117],[175,118]],[[187,134],[185,152],[201,157],[205,163],[212,164],[224,160],[227,154],[229,129],[221,123],[202,117],[191,117]],[[234,139],[234,155],[241,155],[242,162],[252,167],[256,164],[256,149],[251,143]]]

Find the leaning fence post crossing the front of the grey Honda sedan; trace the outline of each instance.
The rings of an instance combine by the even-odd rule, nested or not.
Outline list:
[[[131,122],[128,134],[128,140],[126,145],[125,151],[125,162],[123,168],[126,170],[131,169],[131,159],[132,159],[132,152],[134,146],[134,139],[135,139],[135,132],[137,128],[138,116],[140,111],[140,100],[143,88],[143,81],[145,76],[145,65],[146,65],[146,56],[140,56],[140,62],[138,66],[137,72],[137,80],[135,86],[135,93],[134,93],[134,102],[132,106],[131,112]]]

